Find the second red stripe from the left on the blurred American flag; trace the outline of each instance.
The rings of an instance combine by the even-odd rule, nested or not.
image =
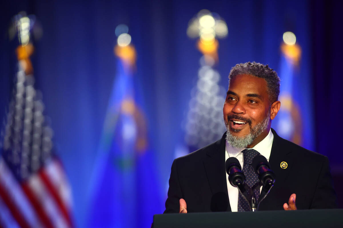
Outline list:
[[[40,220],[42,220],[43,224],[45,225],[45,227],[46,228],[54,228],[49,217],[45,213],[45,210],[43,209],[42,205],[39,203],[37,197],[31,191],[27,181],[22,183],[22,188],[23,188],[27,198],[31,202],[32,206],[36,210]]]

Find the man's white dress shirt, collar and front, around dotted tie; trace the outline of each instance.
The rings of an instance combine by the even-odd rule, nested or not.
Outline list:
[[[269,130],[268,135],[257,145],[253,148],[257,150],[261,155],[267,158],[269,162],[270,151],[272,149],[274,135],[271,130]],[[245,150],[246,148],[235,148],[232,147],[230,144],[226,142],[225,146],[225,161],[230,157],[235,157],[238,159],[241,167],[243,168],[243,153],[241,151]],[[248,148],[250,149],[250,148]],[[224,162],[225,162],[224,161]],[[226,173],[226,185],[227,185],[227,192],[229,194],[230,206],[232,212],[237,212],[237,205],[238,205],[238,188],[232,186],[228,180],[229,175]],[[262,187],[261,187],[262,188]],[[260,189],[261,191],[261,189]]]

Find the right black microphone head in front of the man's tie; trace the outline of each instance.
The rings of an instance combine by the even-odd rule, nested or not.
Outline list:
[[[269,163],[264,156],[255,156],[252,159],[252,167],[254,167],[255,172],[258,174],[262,186],[274,184],[274,172],[270,169]]]

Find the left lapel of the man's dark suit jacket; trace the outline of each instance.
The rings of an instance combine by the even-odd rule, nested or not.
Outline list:
[[[225,137],[215,142],[211,150],[206,151],[204,167],[212,192],[212,211],[231,211],[225,174]],[[227,203],[227,204],[226,204]]]

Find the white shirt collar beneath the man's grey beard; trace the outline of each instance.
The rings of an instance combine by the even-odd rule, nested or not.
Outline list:
[[[272,144],[273,144],[273,139],[274,139],[274,135],[273,135],[272,131],[269,130],[268,135],[265,136],[265,138],[262,139],[261,142],[256,144],[251,149],[254,149],[254,150],[258,151],[267,160],[269,160],[270,151],[271,151]],[[237,157],[241,151],[247,149],[247,148],[235,148],[235,147],[232,147],[230,144],[227,143],[226,140],[225,140],[225,144],[226,144],[225,145],[226,146],[226,151],[229,154],[229,157]],[[248,148],[248,149],[250,149],[250,148]]]

